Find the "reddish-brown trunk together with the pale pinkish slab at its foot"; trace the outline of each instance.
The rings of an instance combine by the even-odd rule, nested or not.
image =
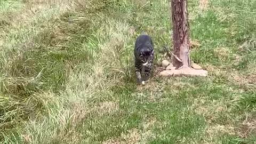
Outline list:
[[[189,23],[187,0],[171,0],[173,23],[173,66],[174,70],[164,70],[161,76],[207,76],[208,72],[190,66]]]

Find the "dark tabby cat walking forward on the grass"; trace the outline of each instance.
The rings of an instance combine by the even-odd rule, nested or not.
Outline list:
[[[138,84],[148,81],[154,63],[154,45],[151,37],[141,34],[137,37],[134,46],[135,74]]]

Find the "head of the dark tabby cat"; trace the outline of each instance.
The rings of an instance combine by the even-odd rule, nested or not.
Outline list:
[[[142,49],[139,54],[143,66],[151,66],[154,60],[154,49]]]

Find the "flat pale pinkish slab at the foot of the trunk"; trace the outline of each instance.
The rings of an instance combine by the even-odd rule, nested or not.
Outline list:
[[[208,71],[203,69],[194,69],[189,68],[187,66],[182,66],[179,69],[175,70],[164,70],[159,73],[160,76],[171,77],[171,76],[203,76],[206,77],[208,75]]]

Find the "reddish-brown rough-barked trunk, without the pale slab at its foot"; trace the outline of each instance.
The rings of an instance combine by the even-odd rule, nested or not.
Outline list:
[[[171,0],[173,23],[173,66],[177,69],[185,65],[190,67],[189,59],[189,23],[187,0]]]

